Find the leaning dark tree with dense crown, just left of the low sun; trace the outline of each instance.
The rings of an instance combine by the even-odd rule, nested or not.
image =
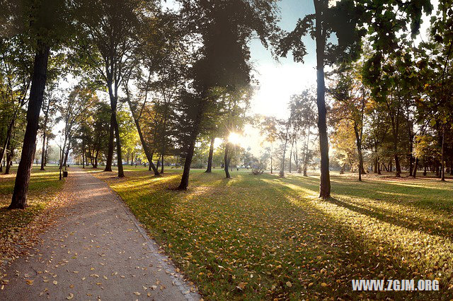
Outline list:
[[[192,90],[181,98],[185,102],[183,107],[193,108],[186,114],[191,117],[190,131],[185,139],[184,170],[178,186],[178,189],[187,189],[195,141],[202,129],[204,114],[219,98],[217,91],[230,93],[248,85],[250,53],[247,42],[255,32],[267,45],[266,40],[275,32],[276,6],[269,0],[179,2],[183,14],[191,17],[191,33],[200,35],[203,42],[192,69]]]

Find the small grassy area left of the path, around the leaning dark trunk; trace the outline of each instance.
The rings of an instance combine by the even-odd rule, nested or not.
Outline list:
[[[47,206],[52,196],[61,189],[63,181],[58,179],[58,167],[47,166],[45,171],[33,167],[28,186],[28,208],[25,210],[8,211],[11,203],[16,167],[10,175],[0,175],[0,241],[14,237],[18,230],[25,228]],[[0,252],[8,250],[0,247]]]

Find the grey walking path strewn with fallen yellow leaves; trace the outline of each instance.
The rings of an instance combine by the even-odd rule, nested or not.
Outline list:
[[[200,299],[105,182],[71,167],[62,196],[38,252],[2,268],[0,300]]]

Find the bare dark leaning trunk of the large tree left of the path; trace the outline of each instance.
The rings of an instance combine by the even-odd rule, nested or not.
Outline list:
[[[35,54],[33,66],[33,78],[30,89],[30,100],[27,110],[27,127],[23,137],[21,162],[19,163],[16,182],[14,183],[13,197],[8,209],[25,208],[27,206],[28,183],[30,172],[35,158],[36,134],[44,94],[45,81],[47,78],[47,62],[49,60],[50,47],[42,45],[38,41],[38,50]]]

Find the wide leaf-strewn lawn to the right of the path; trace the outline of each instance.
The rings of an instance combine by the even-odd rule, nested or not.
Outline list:
[[[317,199],[315,176],[180,170],[126,178],[95,172],[194,281],[205,299],[453,297],[453,184],[390,176],[331,177]],[[451,181],[451,180],[450,180]],[[439,293],[353,292],[352,279],[435,279]],[[415,286],[416,287],[416,286]]]

